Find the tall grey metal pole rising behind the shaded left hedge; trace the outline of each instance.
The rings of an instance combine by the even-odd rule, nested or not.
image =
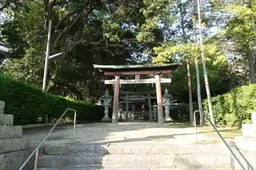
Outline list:
[[[51,31],[52,31],[52,20],[49,21],[49,30],[48,30],[47,47],[46,47],[45,72],[44,72],[44,79],[42,81],[42,91],[45,91],[46,84],[47,84],[47,74],[48,74],[48,63],[49,63],[49,53],[50,53]],[[48,114],[46,114],[45,123],[48,123]]]

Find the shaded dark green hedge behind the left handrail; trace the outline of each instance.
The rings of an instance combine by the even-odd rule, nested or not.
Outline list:
[[[14,116],[14,125],[42,122],[46,114],[51,121],[56,120],[67,108],[77,111],[77,120],[100,120],[104,108],[42,92],[39,88],[24,82],[0,75],[0,100],[5,102],[5,114]],[[66,117],[73,119],[74,113],[68,111]]]

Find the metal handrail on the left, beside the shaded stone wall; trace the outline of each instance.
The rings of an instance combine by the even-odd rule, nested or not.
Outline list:
[[[39,147],[41,146],[42,142],[44,142],[46,140],[46,138],[50,135],[50,133],[53,131],[53,129],[56,127],[56,125],[59,123],[59,121],[61,120],[61,118],[67,113],[68,110],[72,110],[75,112],[74,114],[74,129],[73,129],[73,142],[75,142],[75,127],[76,127],[76,110],[74,109],[70,109],[67,108],[65,110],[65,112],[62,113],[62,115],[59,117],[59,119],[57,120],[57,122],[54,124],[54,126],[52,127],[52,129],[45,135],[45,137],[39,142],[39,144],[37,145],[37,147],[34,149],[34,151],[30,154],[30,156],[28,157],[28,159],[23,163],[22,166],[20,166],[20,168],[18,170],[22,170],[24,168],[24,166],[28,163],[28,161],[31,159],[31,157],[35,154],[35,165],[34,165],[34,170],[36,170],[36,165],[37,165],[37,157],[38,157],[38,150]]]

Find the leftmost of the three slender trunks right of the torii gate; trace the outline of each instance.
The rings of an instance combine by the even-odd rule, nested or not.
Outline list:
[[[180,5],[180,15],[181,15],[181,28],[182,28],[182,36],[183,36],[183,43],[187,42],[186,39],[186,32],[184,28],[184,16],[182,10],[183,5]],[[190,125],[194,125],[194,116],[193,116],[193,100],[192,100],[192,89],[191,89],[191,78],[190,78],[190,68],[189,68],[189,61],[186,60],[187,65],[187,84],[188,84],[188,99],[189,99],[189,119],[190,119]]]

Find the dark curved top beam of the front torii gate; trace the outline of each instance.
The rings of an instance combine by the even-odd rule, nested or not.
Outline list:
[[[162,71],[162,70],[175,70],[181,65],[181,62],[175,62],[164,65],[96,65],[93,64],[94,68],[98,68],[100,71]]]

